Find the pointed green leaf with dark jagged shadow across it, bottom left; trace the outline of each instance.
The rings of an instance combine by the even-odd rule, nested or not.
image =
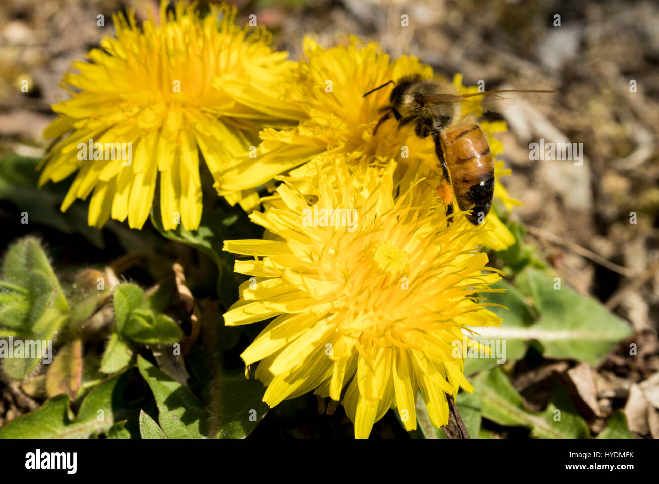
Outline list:
[[[168,439],[204,439],[210,431],[210,414],[187,387],[138,356],[142,377],[156,398],[158,423]]]

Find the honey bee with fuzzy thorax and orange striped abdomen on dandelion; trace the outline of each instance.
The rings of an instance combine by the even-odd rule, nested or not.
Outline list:
[[[476,119],[472,116],[459,116],[460,103],[478,103],[486,111],[501,111],[500,104],[509,101],[501,97],[504,92],[552,92],[544,90],[499,90],[454,94],[451,85],[438,80],[423,79],[420,75],[406,76],[397,82],[389,81],[370,90],[382,89],[387,84],[395,84],[389,105],[380,108],[384,116],[373,129],[393,115],[399,126],[413,124],[416,136],[432,136],[435,153],[446,186],[453,189],[453,200],[462,211],[471,211],[467,219],[474,225],[484,220],[490,211],[494,194],[494,160],[490,146]],[[480,101],[469,99],[483,96]],[[446,215],[453,213],[450,196],[442,194],[446,205]]]

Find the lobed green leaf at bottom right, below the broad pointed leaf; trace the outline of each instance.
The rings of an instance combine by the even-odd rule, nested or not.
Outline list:
[[[586,439],[588,427],[561,387],[554,387],[544,412],[531,412],[501,368],[482,374],[482,416],[500,425],[527,427],[542,439]]]

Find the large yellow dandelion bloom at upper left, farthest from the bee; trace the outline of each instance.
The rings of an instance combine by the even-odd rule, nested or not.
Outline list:
[[[199,151],[221,183],[259,128],[299,117],[277,91],[295,63],[270,47],[262,28],[235,26],[235,14],[221,5],[202,19],[182,2],[168,13],[163,1],[159,22],[150,17],[141,29],[132,12],[113,16],[115,37],[73,64],[78,72],[63,78],[71,99],[53,105],[60,117],[43,133],[56,139],[40,165],[40,186],[78,171],[63,211],[93,192],[90,225],[128,217],[140,229],[160,173],[163,226],[194,230],[202,211]],[[254,205],[249,188],[227,199]]]

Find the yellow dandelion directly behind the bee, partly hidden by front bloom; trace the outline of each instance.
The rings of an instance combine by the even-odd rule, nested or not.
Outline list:
[[[223,188],[242,190],[255,180],[265,182],[290,169],[290,175],[300,180],[313,176],[318,166],[329,174],[331,159],[337,156],[353,166],[360,163],[383,166],[395,160],[401,165],[399,176],[413,166],[429,181],[436,178],[437,186],[440,178],[436,176],[437,159],[430,137],[421,140],[411,126],[401,128],[393,118],[380,124],[374,136],[374,128],[382,117],[378,110],[389,104],[390,90],[382,89],[363,97],[375,86],[410,74],[432,78],[432,68],[415,57],[403,56],[392,61],[377,43],[362,44],[356,38],[348,45],[328,49],[305,38],[303,47],[303,59],[293,73],[287,93],[306,119],[295,127],[262,130],[258,161],[244,159],[243,165],[236,165],[232,176],[224,179],[227,185]],[[476,92],[475,87],[462,85],[462,76],[455,76],[453,84],[460,94]],[[480,117],[482,110],[477,106],[463,107],[460,117],[470,114]],[[482,122],[481,127],[496,157],[503,147],[492,134],[505,130],[505,122]],[[498,182],[498,177],[506,173],[503,163],[496,162],[496,167],[495,196],[503,197],[507,204],[514,203]],[[494,211],[488,213],[481,229],[479,241],[488,248],[500,250],[514,242]]]

